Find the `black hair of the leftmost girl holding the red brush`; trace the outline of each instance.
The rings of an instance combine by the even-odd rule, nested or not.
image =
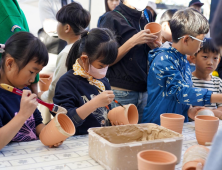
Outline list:
[[[48,52],[45,45],[34,35],[28,32],[18,32],[12,35],[5,43],[5,52],[2,54],[0,70],[4,71],[7,54],[14,58],[19,71],[31,60],[46,66]]]

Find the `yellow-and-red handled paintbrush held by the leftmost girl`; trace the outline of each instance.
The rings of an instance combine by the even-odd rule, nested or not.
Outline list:
[[[7,91],[10,91],[10,92],[15,93],[19,96],[22,96],[22,91],[15,88],[15,87],[9,86],[8,84],[4,84],[4,83],[0,84],[0,86],[3,89],[7,90]],[[36,99],[36,100],[38,101],[38,103],[46,106],[50,111],[52,111],[54,113],[63,113],[63,114],[67,113],[67,110],[65,108],[61,107],[61,106],[58,106],[58,105],[53,104],[53,103],[49,104],[49,103],[43,102],[40,99]]]

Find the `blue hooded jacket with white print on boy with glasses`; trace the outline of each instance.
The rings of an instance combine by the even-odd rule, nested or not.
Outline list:
[[[150,51],[148,60],[148,100],[143,123],[160,124],[162,113],[184,115],[187,122],[190,105],[210,104],[211,91],[192,87],[192,74],[186,55],[173,47],[158,48]]]

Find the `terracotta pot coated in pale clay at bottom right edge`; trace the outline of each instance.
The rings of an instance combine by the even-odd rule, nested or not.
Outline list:
[[[209,151],[201,145],[189,147],[184,153],[182,170],[195,170],[199,162],[204,166]]]

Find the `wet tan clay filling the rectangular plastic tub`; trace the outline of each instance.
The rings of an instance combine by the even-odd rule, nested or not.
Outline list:
[[[149,124],[145,127],[140,125],[111,126],[96,129],[94,132],[114,144],[152,141],[156,139],[182,136],[179,133],[173,132],[156,124]]]

